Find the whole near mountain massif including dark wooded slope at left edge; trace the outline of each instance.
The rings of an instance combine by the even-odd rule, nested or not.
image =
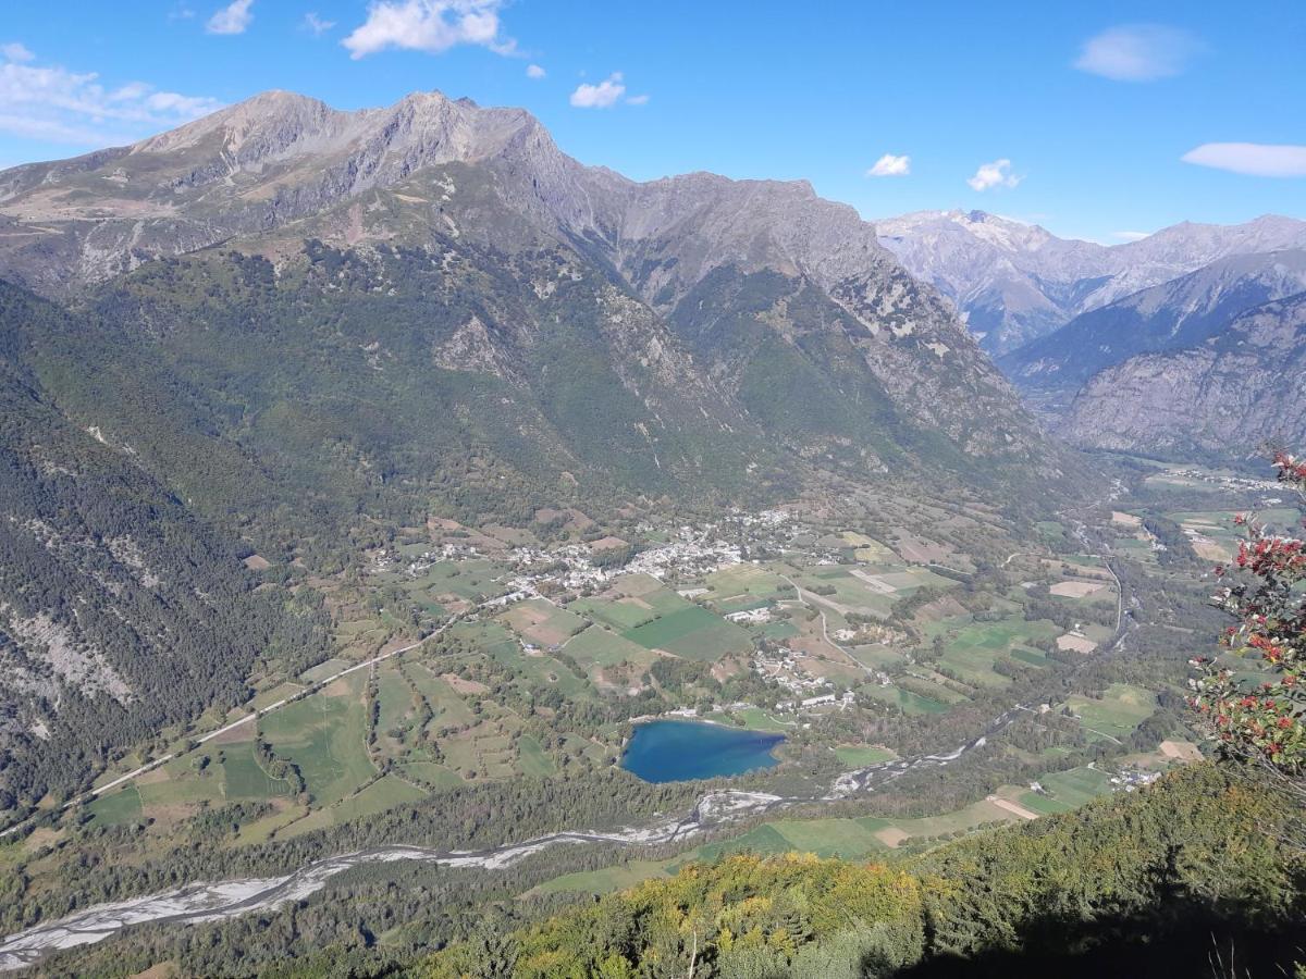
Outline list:
[[[249,650],[311,655],[313,610],[260,587],[255,550],[338,569],[379,526],[838,479],[1037,506],[1072,465],[852,208],[806,183],[635,183],[438,93],[359,112],[265,93],[5,171],[0,279],[24,419],[0,543],[25,569],[0,577],[0,668],[40,694],[0,701],[0,787],[29,803],[239,702]],[[85,607],[47,600],[69,581]]]

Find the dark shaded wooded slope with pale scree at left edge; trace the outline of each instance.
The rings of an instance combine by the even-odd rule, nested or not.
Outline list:
[[[260,660],[321,655],[311,607],[256,590],[239,542],[51,394],[93,347],[0,283],[0,809],[65,794],[127,745],[242,702]],[[64,358],[69,359],[64,359]]]

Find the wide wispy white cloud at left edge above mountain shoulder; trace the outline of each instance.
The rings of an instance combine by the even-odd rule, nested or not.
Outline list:
[[[141,81],[106,89],[95,72],[18,63],[8,54],[5,57],[9,60],[0,63],[0,132],[13,136],[108,146],[222,107],[213,98],[159,91]]]

